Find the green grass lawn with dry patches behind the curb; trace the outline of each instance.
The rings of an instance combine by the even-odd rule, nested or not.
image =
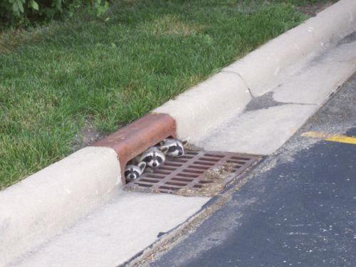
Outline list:
[[[298,25],[292,4],[127,0],[107,21],[2,33],[0,188],[78,150],[84,129],[112,132]]]

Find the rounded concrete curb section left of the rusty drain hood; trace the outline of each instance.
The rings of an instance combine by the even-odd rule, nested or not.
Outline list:
[[[120,177],[114,150],[85,147],[1,191],[0,266],[100,207]]]

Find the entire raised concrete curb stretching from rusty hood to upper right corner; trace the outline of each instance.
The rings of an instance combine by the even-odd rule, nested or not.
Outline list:
[[[251,95],[271,91],[277,85],[278,75],[298,71],[295,64],[303,65],[323,53],[330,43],[355,30],[356,1],[340,0],[154,112],[166,113],[176,120],[178,137],[191,137],[193,142],[199,142],[199,137],[216,122],[243,110]]]

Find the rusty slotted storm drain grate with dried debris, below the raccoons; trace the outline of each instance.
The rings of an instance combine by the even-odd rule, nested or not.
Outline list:
[[[188,151],[182,157],[167,158],[162,167],[155,169],[154,172],[145,172],[138,179],[129,182],[125,189],[137,192],[184,194],[184,192],[201,192],[204,189],[209,191],[209,186],[214,184],[216,189],[216,184],[219,184],[221,187],[219,191],[221,191],[231,179],[259,159],[261,156],[231,152]],[[221,179],[216,181],[215,177]]]

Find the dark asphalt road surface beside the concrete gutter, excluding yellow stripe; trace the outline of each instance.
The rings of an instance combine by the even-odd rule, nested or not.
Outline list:
[[[356,266],[356,76],[150,266]],[[336,139],[337,140],[337,139]]]

